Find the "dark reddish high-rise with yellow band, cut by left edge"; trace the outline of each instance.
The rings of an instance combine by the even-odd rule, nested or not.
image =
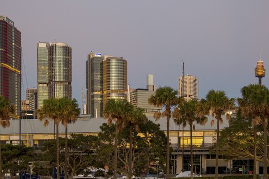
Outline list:
[[[0,95],[16,107],[16,118],[20,116],[21,90],[21,35],[14,22],[0,16]]]

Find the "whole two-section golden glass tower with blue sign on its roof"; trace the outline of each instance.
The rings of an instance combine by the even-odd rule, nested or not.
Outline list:
[[[91,53],[86,61],[87,114],[102,117],[109,99],[127,99],[127,61]]]

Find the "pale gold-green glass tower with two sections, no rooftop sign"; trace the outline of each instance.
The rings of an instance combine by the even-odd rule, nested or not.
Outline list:
[[[72,49],[64,42],[37,43],[38,108],[48,98],[72,98]]]

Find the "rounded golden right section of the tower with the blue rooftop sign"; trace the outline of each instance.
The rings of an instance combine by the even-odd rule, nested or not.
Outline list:
[[[127,60],[122,57],[104,56],[103,107],[109,99],[127,99]]]

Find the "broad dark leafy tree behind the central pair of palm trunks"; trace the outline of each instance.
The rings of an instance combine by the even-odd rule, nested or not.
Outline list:
[[[139,132],[133,131],[132,135],[132,168],[134,173],[148,169],[149,163],[160,158],[160,166],[164,162],[165,135],[160,130],[159,124],[154,124],[147,120],[146,123],[139,123]],[[100,126],[101,132],[98,134],[98,149],[96,157],[96,167],[112,167],[113,139],[115,136],[115,125],[104,123]],[[130,125],[123,128],[118,134],[118,171],[129,174],[128,164],[130,161]]]

